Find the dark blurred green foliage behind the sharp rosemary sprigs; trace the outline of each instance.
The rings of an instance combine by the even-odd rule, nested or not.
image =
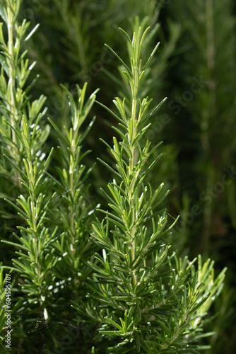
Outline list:
[[[163,193],[170,189],[164,206],[170,217],[175,219],[180,215],[172,236],[179,256],[189,254],[194,258],[203,253],[204,260],[210,257],[216,261],[217,275],[225,266],[228,267],[224,290],[211,310],[212,314],[218,312],[218,316],[209,325],[215,335],[209,340],[212,348],[206,351],[207,354],[232,354],[236,338],[234,6],[232,0],[199,0],[195,3],[187,0],[24,0],[19,16],[30,21],[31,29],[40,23],[40,29],[29,40],[28,57],[30,62],[37,62],[30,78],[40,74],[30,94],[32,99],[42,93],[47,96],[44,103],[48,107],[47,115],[57,122],[59,130],[64,126],[69,129],[70,125],[66,91],[59,84],[63,83],[75,94],[76,84],[82,87],[88,82],[88,93],[99,87],[98,101],[111,108],[117,92],[124,97],[126,91],[122,81],[117,79],[117,62],[104,43],[112,43],[118,54],[126,55],[118,27],[126,28],[131,34],[129,18],[135,16],[148,16],[148,24],[152,28],[157,21],[160,23],[150,42],[150,47],[153,47],[160,40],[160,51],[153,58],[148,72],[148,85],[141,89],[156,102],[165,96],[168,98],[157,117],[151,120],[152,130],[146,135],[153,145],[164,141],[165,158],[149,178],[153,188],[165,181]],[[83,142],[84,151],[92,150],[85,156],[88,168],[98,156],[105,157],[106,161],[110,159],[98,138],[111,142],[114,135],[111,125],[116,124],[99,105],[93,105],[91,115],[96,115],[96,120]],[[54,130],[51,130],[47,141],[47,152],[57,146],[58,135]],[[61,154],[54,154],[48,172],[53,175],[53,166],[63,166],[64,163]],[[98,203],[103,206],[104,200],[97,190],[109,180],[110,175],[101,164],[97,164],[88,176],[91,187],[85,198],[93,208]],[[18,186],[13,185],[12,188],[17,195]],[[1,195],[1,205],[5,197]],[[16,231],[16,220],[12,217],[12,210],[7,212],[11,217],[4,217],[1,239],[11,240],[12,232]],[[1,259],[5,264],[12,253],[6,245],[1,245]],[[71,289],[73,291],[73,287]],[[61,304],[61,299],[58,301]],[[62,314],[69,318],[68,307],[61,305]],[[76,319],[76,313],[73,315]],[[22,312],[21,316],[23,321],[26,315]],[[72,334],[74,331],[74,334],[79,332],[86,338],[93,338],[93,329],[84,324],[77,324],[74,329],[67,329],[63,321],[61,325],[53,321],[47,324],[47,331],[52,337],[66,338],[68,330]],[[26,334],[33,346],[30,348],[32,353],[43,350],[35,349],[35,346],[40,348],[45,331],[43,321],[37,328],[28,323]],[[78,345],[83,343],[76,334],[74,338]],[[207,338],[205,341],[209,343]],[[69,348],[66,347],[68,353]],[[88,348],[82,350],[87,353]]]

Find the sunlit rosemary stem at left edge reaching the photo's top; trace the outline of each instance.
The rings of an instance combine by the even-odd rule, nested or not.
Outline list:
[[[18,24],[17,17],[20,3],[21,0],[4,0],[0,11],[0,16],[4,21],[0,23],[1,150],[11,156],[11,159],[18,166],[22,163],[24,154],[23,145],[16,132],[16,130],[22,130],[21,116],[22,114],[25,114],[25,116],[27,114],[30,125],[33,124],[40,113],[42,105],[45,103],[44,96],[40,96],[32,105],[29,101],[28,92],[35,84],[37,78],[26,86],[28,76],[35,66],[35,62],[29,64],[29,60],[25,59],[28,50],[23,50],[23,47],[25,42],[37,30],[38,25],[26,35],[30,22],[23,20],[20,25]],[[6,35],[4,35],[4,27],[7,29]],[[1,161],[0,171],[4,178],[6,175],[10,175],[13,186],[16,185],[16,189],[22,192],[19,180],[20,173],[17,169],[12,169],[12,166],[3,160]]]

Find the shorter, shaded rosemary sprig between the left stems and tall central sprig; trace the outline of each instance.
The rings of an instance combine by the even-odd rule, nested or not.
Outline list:
[[[62,86],[62,85],[61,85]],[[88,243],[89,228],[88,222],[91,210],[86,192],[89,185],[85,184],[93,166],[86,171],[83,164],[84,157],[90,153],[90,150],[82,152],[83,139],[87,136],[90,128],[93,126],[95,117],[82,132],[82,125],[87,119],[90,110],[95,101],[93,92],[88,101],[85,101],[87,84],[83,89],[77,86],[77,100],[75,101],[71,93],[62,86],[69,98],[71,108],[71,127],[69,130],[64,127],[61,132],[57,125],[49,119],[54,129],[59,135],[59,149],[66,168],[57,167],[59,178],[51,176],[55,182],[57,193],[61,195],[61,202],[58,203],[56,210],[57,223],[60,223],[61,239],[54,244],[60,256],[63,256],[64,272],[59,274],[62,278],[72,278],[68,287],[73,285],[73,290],[82,291],[81,282],[86,278],[88,266],[85,266],[85,260],[88,255],[91,259],[91,243]],[[60,265],[61,266],[61,265]],[[86,271],[87,270],[87,271]],[[58,272],[59,273],[59,272]]]

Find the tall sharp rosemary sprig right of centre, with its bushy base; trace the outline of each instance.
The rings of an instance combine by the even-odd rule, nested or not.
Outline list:
[[[130,105],[125,99],[114,99],[117,114],[106,108],[119,122],[113,129],[120,141],[114,137],[113,147],[105,142],[115,166],[100,160],[114,175],[108,191],[102,190],[110,211],[100,210],[105,219],[100,222],[95,217],[92,225],[91,239],[102,254],[95,253],[96,262],[88,263],[94,272],[88,282],[90,304],[81,304],[87,316],[98,322],[97,340],[103,350],[103,341],[107,342],[109,353],[196,353],[195,342],[208,335],[201,333],[202,320],[220,292],[225,270],[213,280],[209,260],[202,265],[199,256],[195,268],[196,260],[168,254],[167,235],[175,223],[167,227],[167,212],[159,208],[165,198],[160,196],[163,184],[153,192],[145,183],[160,158],[151,161],[160,144],[151,149],[151,142],[143,141],[151,125],[146,122],[165,99],[150,108],[152,99],[138,98],[140,81],[158,48],[143,64],[141,49],[148,32],[144,24],[136,27],[132,39],[122,30],[130,67],[109,47],[122,63],[131,97]],[[78,311],[84,314],[81,307]]]

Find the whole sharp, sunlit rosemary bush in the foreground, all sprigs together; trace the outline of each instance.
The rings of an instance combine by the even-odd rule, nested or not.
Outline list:
[[[76,86],[76,94],[61,86],[57,92],[68,97],[69,119],[62,129],[48,119],[59,139],[58,149],[49,149],[54,139],[46,98],[33,101],[29,93],[37,78],[30,83],[35,62],[26,59],[25,43],[37,26],[28,31],[29,22],[18,23],[20,3],[4,0],[0,8],[2,352],[199,353],[208,348],[202,341],[212,334],[205,329],[208,309],[223,287],[225,269],[215,278],[210,259],[179,258],[169,241],[178,217],[171,224],[161,206],[168,192],[164,183],[148,183],[161,154],[160,143],[153,146],[146,133],[165,103],[153,105],[147,96],[159,43],[147,59],[144,52],[150,52],[155,30],[148,35],[148,19],[138,17],[131,21],[132,37],[121,30],[129,64],[106,45],[120,63],[117,113],[95,101],[98,89],[86,101],[86,83]],[[90,205],[93,166],[83,163],[95,102],[115,120],[113,146],[102,139],[112,159],[98,159],[113,178],[102,188],[105,208]],[[16,229],[8,232],[12,218]]]

